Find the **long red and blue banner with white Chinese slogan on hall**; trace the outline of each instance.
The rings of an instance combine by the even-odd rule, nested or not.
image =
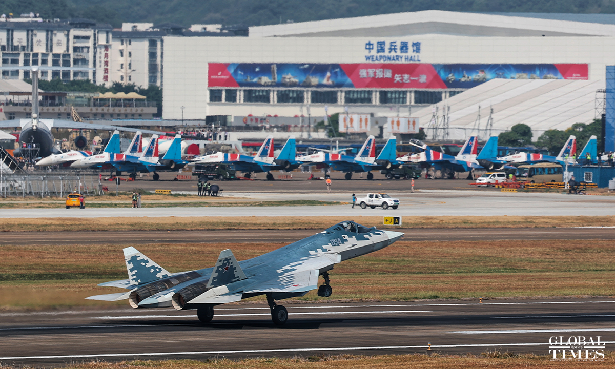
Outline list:
[[[209,63],[209,87],[469,89],[491,79],[588,79],[587,64]]]

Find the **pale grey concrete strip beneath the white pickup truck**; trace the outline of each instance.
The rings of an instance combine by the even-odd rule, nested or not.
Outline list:
[[[424,190],[389,192],[400,199],[397,210],[389,208],[351,208],[351,205],[330,206],[284,206],[284,207],[165,207],[161,208],[30,208],[0,209],[0,218],[100,218],[122,216],[344,216],[357,215],[402,215],[402,216],[611,216],[615,215],[615,196],[579,196],[556,193],[526,192],[479,192]],[[271,194],[264,192],[234,193],[253,200],[305,200],[349,201],[351,193],[331,194],[295,192]],[[365,196],[363,193],[360,196]],[[87,204],[87,200],[86,200]],[[86,205],[87,207],[87,205]]]

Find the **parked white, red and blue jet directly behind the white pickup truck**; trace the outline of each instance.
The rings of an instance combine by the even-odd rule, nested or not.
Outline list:
[[[346,173],[345,178],[350,180],[352,173],[367,172],[367,179],[371,180],[374,175],[371,170],[388,169],[391,165],[402,164],[395,158],[397,139],[395,136],[389,137],[383,150],[376,157],[376,139],[370,135],[365,140],[363,146],[356,156],[352,157],[344,154],[333,154],[319,151],[311,155],[298,158],[304,165],[316,165],[317,167],[327,167]]]

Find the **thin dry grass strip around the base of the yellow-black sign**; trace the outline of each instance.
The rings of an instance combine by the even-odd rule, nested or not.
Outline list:
[[[68,211],[68,210],[67,210]],[[161,210],[164,212],[164,210]],[[77,216],[75,210],[75,216]],[[326,229],[343,221],[339,216],[134,216],[122,218],[4,218],[0,232],[27,231],[172,231],[198,229]],[[382,216],[353,216],[365,226],[382,226]],[[417,216],[405,228],[551,228],[615,226],[615,216]]]

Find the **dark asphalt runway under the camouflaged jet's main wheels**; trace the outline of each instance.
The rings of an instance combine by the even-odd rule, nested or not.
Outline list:
[[[335,285],[333,286],[335,294]],[[196,311],[130,308],[0,313],[4,365],[86,359],[206,359],[316,354],[509,350],[549,355],[551,336],[615,347],[613,300],[494,300],[287,304],[276,327],[266,305],[223,305],[211,323]]]

